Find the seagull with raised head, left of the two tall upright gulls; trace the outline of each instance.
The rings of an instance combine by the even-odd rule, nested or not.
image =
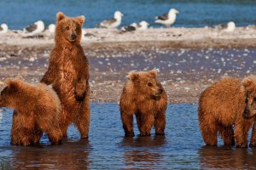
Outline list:
[[[123,14],[120,11],[116,11],[113,14],[113,18],[110,20],[103,20],[101,23],[97,24],[98,27],[103,28],[116,28],[121,24]]]

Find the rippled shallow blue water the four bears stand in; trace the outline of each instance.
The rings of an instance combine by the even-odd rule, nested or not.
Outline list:
[[[166,136],[124,138],[117,104],[92,104],[90,138],[71,126],[58,146],[9,145],[12,110],[0,113],[0,169],[171,169],[255,168],[256,149],[206,147],[197,122],[197,105],[168,105]],[[136,126],[136,125],[135,125]],[[135,133],[138,134],[137,127]]]

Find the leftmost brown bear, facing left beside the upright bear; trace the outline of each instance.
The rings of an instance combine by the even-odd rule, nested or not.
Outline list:
[[[47,133],[51,144],[61,144],[61,101],[44,83],[32,85],[8,79],[0,96],[0,107],[15,109],[11,144],[38,144]]]

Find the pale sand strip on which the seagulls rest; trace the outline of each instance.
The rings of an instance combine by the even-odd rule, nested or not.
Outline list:
[[[84,47],[101,48],[255,48],[256,27],[236,27],[226,32],[213,28],[149,28],[121,33],[109,29],[84,29]],[[44,31],[38,38],[9,31],[0,44],[10,46],[52,46],[54,34]]]

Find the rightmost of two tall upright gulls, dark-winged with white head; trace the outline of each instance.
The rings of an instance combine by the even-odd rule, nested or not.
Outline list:
[[[166,25],[166,27],[170,27],[176,20],[176,14],[179,11],[175,8],[171,8],[168,14],[163,14],[155,17],[155,23]]]

